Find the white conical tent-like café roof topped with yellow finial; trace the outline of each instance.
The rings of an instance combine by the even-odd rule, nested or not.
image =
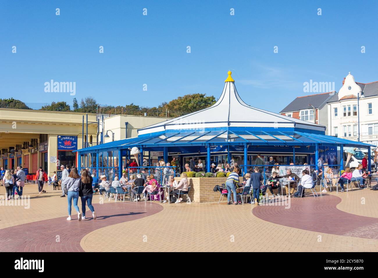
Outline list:
[[[249,106],[240,98],[228,72],[225,87],[218,101],[197,112],[167,120],[138,130],[138,134],[160,132],[169,129],[204,129],[216,127],[296,127],[324,131],[319,124],[298,120],[278,113]]]

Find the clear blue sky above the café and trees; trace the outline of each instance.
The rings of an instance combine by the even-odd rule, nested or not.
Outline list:
[[[157,106],[190,93],[218,98],[232,69],[246,103],[279,112],[308,95],[310,79],[337,91],[349,71],[377,81],[377,14],[377,1],[2,0],[0,98]],[[45,93],[50,79],[76,82],[76,96]]]

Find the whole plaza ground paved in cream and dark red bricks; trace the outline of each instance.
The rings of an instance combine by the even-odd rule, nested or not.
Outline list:
[[[378,251],[377,192],[369,189],[292,199],[286,210],[225,202],[101,205],[95,195],[98,220],[81,222],[66,220],[67,199],[52,187],[46,194],[35,185],[24,190],[29,209],[0,208],[0,251]],[[115,244],[115,236],[125,241]]]

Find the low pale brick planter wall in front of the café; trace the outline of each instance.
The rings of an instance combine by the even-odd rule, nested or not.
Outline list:
[[[180,182],[181,177],[176,177],[175,180]],[[189,197],[194,202],[215,202],[219,200],[220,193],[214,192],[214,186],[226,182],[226,178],[188,178],[189,185],[191,186]]]

